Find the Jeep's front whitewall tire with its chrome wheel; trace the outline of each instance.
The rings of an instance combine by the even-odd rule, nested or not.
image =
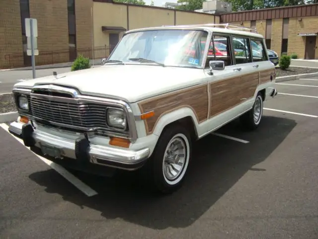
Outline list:
[[[157,192],[168,194],[178,190],[185,178],[191,157],[191,137],[179,124],[166,127],[149,159],[146,170]]]

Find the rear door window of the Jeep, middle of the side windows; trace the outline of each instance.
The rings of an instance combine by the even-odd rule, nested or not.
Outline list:
[[[248,38],[233,37],[233,46],[237,65],[252,62]]]

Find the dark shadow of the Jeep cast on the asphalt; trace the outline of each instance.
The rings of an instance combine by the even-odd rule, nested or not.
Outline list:
[[[248,171],[266,173],[254,165],[279,146],[296,126],[291,119],[263,117],[256,131],[243,132],[234,121],[219,131],[239,137],[248,136],[247,144],[208,135],[195,143],[192,163],[183,187],[172,195],[161,196],[145,190],[135,173],[120,173],[104,178],[76,172],[80,180],[98,192],[86,197],[74,194],[69,183],[55,180],[53,169],[29,177],[48,193],[62,195],[65,201],[101,212],[107,219],[123,220],[152,229],[185,228],[209,210]]]

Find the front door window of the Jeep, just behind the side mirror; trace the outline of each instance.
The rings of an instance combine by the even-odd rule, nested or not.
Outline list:
[[[227,35],[213,35],[210,42],[209,52],[205,67],[209,67],[209,61],[224,61],[225,66],[233,65],[231,59],[231,44],[230,36]]]

